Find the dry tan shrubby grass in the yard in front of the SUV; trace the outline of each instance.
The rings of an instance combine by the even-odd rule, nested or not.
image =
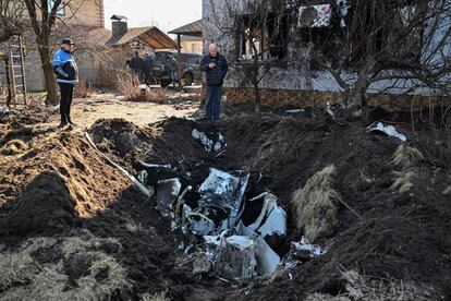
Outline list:
[[[131,73],[118,73],[115,85],[126,100],[155,101],[161,104],[166,99],[162,88],[150,89],[142,85],[138,76]]]

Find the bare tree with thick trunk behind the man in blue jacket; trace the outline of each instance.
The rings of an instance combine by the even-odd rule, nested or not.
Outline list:
[[[57,84],[53,77],[53,67],[51,64],[50,36],[56,27],[57,21],[64,23],[74,17],[84,1],[74,4],[71,0],[22,0],[28,12],[29,22],[36,36],[36,44],[42,63],[44,77],[46,82],[47,97],[46,105],[58,104]],[[61,11],[69,10],[65,19],[59,17]]]

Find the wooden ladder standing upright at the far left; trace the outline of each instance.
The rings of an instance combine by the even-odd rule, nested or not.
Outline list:
[[[9,73],[9,106],[24,106],[27,104],[24,47],[21,36],[14,36],[9,43],[8,67]]]

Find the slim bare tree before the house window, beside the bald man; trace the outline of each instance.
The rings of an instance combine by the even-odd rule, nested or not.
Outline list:
[[[219,36],[233,40],[231,67],[244,73],[241,85],[254,89],[255,112],[260,111],[260,83],[277,64],[283,20],[283,0],[210,0],[214,25]],[[219,14],[218,12],[221,12]]]

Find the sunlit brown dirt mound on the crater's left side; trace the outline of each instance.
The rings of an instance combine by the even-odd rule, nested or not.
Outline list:
[[[26,237],[71,228],[78,218],[106,209],[129,186],[83,139],[69,133],[49,136],[10,160],[0,182],[0,234]]]

